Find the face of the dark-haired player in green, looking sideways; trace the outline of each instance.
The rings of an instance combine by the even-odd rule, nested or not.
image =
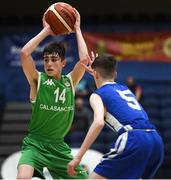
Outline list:
[[[66,61],[62,61],[58,53],[45,54],[43,61],[45,72],[48,76],[60,77]]]

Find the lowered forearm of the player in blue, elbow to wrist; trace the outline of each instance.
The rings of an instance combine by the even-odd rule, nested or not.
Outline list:
[[[103,126],[104,124],[102,123],[99,124],[98,122],[95,121],[93,122],[76,157],[82,159],[85,152],[90,148],[90,146],[96,140]]]

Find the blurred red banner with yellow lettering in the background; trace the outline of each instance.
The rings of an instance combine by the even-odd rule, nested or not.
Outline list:
[[[89,50],[98,54],[111,53],[124,61],[171,63],[171,32],[85,32],[83,35]]]

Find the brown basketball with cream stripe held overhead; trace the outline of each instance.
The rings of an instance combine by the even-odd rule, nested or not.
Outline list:
[[[45,20],[54,34],[67,34],[74,30],[74,8],[64,2],[52,4],[45,13]]]

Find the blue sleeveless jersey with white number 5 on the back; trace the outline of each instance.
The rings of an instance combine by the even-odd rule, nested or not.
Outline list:
[[[108,82],[95,91],[106,108],[105,122],[115,131],[124,126],[133,129],[154,129],[148,115],[127,86]]]

